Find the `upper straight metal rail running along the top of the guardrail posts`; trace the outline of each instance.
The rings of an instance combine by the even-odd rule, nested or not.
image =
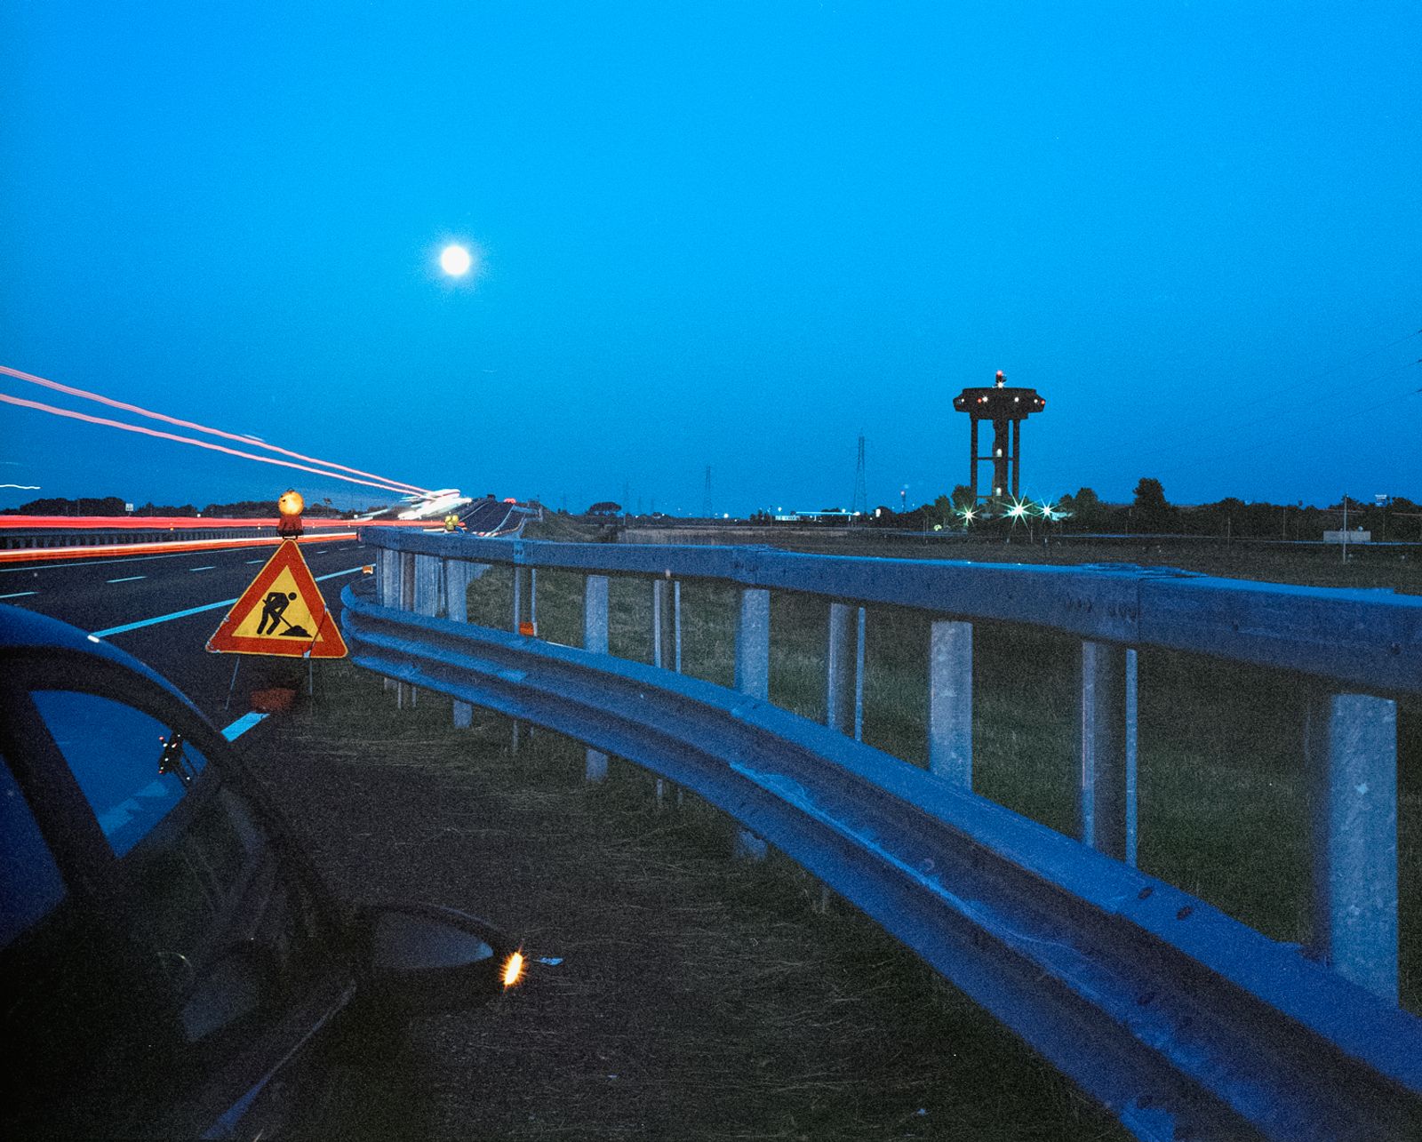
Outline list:
[[[1422,694],[1422,597],[1385,590],[1246,583],[1125,565],[1054,567],[529,539],[510,545],[415,532],[361,532],[361,538],[397,550],[486,563],[717,579],[838,603],[1025,623],[1101,643],[1298,671],[1369,693]]]

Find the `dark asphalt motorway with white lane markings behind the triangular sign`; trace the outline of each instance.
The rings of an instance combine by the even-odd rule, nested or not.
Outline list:
[[[306,676],[300,658],[206,651],[208,639],[232,602],[273,550],[242,548],[65,560],[37,556],[33,563],[0,566],[0,603],[100,634],[166,677],[222,725],[247,711],[246,697],[252,690]],[[360,575],[370,556],[354,539],[303,545],[301,556],[338,621],[341,589]],[[232,708],[225,710],[237,658],[242,660],[237,687]]]

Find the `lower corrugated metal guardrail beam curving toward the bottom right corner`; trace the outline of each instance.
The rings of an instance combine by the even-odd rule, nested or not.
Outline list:
[[[1297,947],[751,695],[383,607],[351,587],[341,597],[357,664],[695,791],[914,949],[1140,1138],[1422,1136],[1422,1020]]]

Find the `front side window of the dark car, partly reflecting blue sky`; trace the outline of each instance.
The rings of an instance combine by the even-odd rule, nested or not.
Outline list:
[[[88,693],[31,697],[119,859],[128,932],[161,967],[182,1034],[260,1025],[317,968],[323,934],[262,812],[216,771],[196,779],[208,761],[183,734],[196,727]]]

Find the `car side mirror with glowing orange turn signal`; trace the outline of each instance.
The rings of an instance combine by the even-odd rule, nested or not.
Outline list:
[[[392,1014],[475,1007],[523,976],[523,956],[506,934],[455,909],[365,907],[353,934],[365,998]]]

